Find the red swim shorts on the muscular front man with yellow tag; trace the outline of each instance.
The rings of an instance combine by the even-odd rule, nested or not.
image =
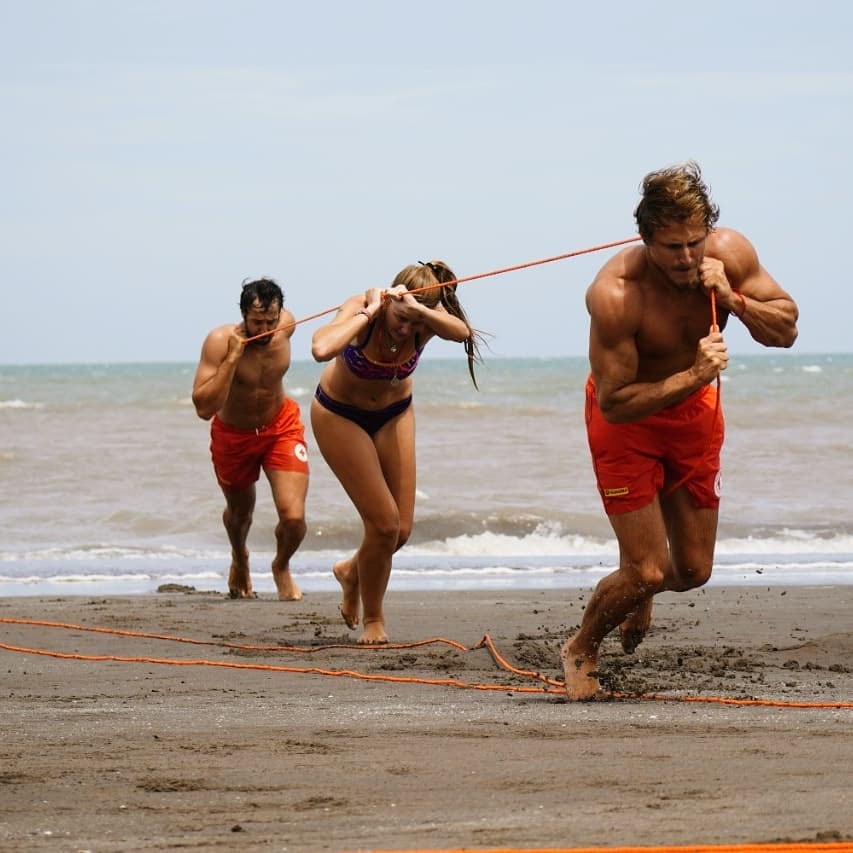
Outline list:
[[[586,431],[598,491],[608,515],[648,506],[662,489],[684,486],[696,507],[720,505],[720,450],[725,423],[717,389],[626,424],[604,420],[592,377],[586,383]]]

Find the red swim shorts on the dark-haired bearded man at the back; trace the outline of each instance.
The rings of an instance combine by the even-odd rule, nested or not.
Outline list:
[[[308,473],[305,426],[299,406],[289,397],[272,423],[259,429],[237,429],[214,416],[210,455],[223,491],[242,492],[258,481],[261,468]]]

